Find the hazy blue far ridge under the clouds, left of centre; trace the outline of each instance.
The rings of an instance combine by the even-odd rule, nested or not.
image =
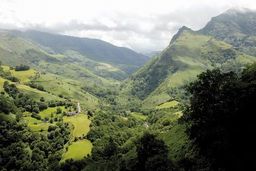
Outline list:
[[[49,52],[66,54],[75,51],[85,58],[111,64],[126,73],[132,73],[148,60],[148,57],[131,49],[117,47],[97,39],[77,38],[39,31],[15,31],[13,34],[34,41],[45,47]]]

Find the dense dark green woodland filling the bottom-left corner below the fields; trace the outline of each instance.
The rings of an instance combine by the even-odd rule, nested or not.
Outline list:
[[[25,125],[0,121],[0,170],[58,170],[63,142],[69,139],[66,125],[58,125],[54,139],[31,133]],[[48,160],[49,159],[49,160]]]

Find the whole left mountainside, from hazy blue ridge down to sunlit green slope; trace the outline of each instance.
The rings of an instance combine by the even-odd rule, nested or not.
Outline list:
[[[38,70],[41,77],[33,82],[56,96],[83,100],[83,106],[90,109],[147,59],[96,39],[0,30],[0,61],[4,65],[26,64]]]

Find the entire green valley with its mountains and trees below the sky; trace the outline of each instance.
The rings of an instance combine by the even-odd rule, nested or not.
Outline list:
[[[255,133],[240,116],[254,119],[256,13],[247,15],[183,26],[152,58],[98,39],[0,30],[0,170],[250,168],[239,146]]]

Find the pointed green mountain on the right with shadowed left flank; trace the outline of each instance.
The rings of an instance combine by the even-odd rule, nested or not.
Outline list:
[[[244,15],[236,13],[232,16],[235,18],[234,22]],[[143,107],[151,108],[174,98],[178,88],[195,79],[206,69],[219,67],[225,71],[240,70],[245,64],[256,61],[256,58],[252,56],[253,53],[247,53],[245,50],[249,48],[245,46],[246,44],[237,48],[234,43],[227,41],[224,37],[221,39],[215,36],[209,29],[212,21],[215,21],[218,28],[216,33],[225,32],[225,28],[234,29],[229,25],[226,27],[217,25],[215,18],[200,31],[182,27],[159,56],[125,81],[121,92],[131,94],[142,101]],[[229,18],[229,21],[233,23],[233,19]],[[255,27],[247,29],[246,33],[253,35],[253,29]],[[236,43],[235,40],[234,42]]]

